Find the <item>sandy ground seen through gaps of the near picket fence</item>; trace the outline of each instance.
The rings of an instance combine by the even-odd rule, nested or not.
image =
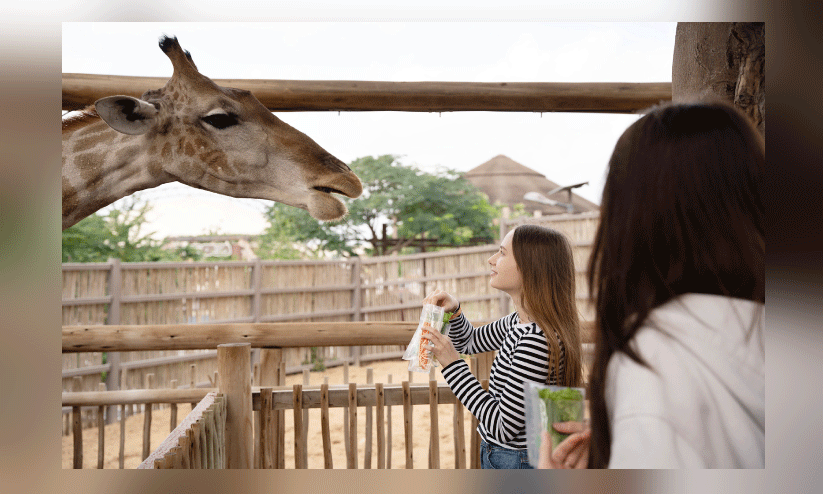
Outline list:
[[[405,360],[393,360],[386,362],[370,362],[363,364],[362,367],[349,366],[349,381],[365,384],[366,372],[368,368],[373,369],[375,382],[388,382],[388,375],[392,375],[392,382],[399,383],[404,379],[408,379],[408,362]],[[335,367],[327,369],[326,371],[312,372],[310,384],[322,384],[323,378],[328,377],[330,385],[343,384],[343,367]],[[438,380],[442,381],[439,371],[437,372]],[[414,373],[413,382],[423,383],[428,381],[428,374]],[[286,384],[302,384],[302,375],[287,376]],[[414,408],[414,416],[412,419],[413,433],[412,443],[413,449],[413,465],[414,468],[428,468],[429,458],[429,432],[430,432],[430,418],[429,406],[418,405]],[[191,406],[187,404],[178,405],[177,421],[182,422],[183,419],[191,411]],[[464,423],[464,437],[466,444],[466,462],[469,461],[468,448],[470,445],[471,432],[471,414],[463,407]],[[286,412],[286,468],[294,468],[294,427],[293,427],[293,412]],[[156,448],[166,436],[169,434],[171,411],[169,408],[163,410],[152,411],[152,431],[151,431],[151,449]],[[453,419],[454,406],[440,405],[438,411],[438,427],[440,432],[440,468],[454,468],[454,433],[453,433]],[[358,428],[357,428],[357,442],[358,442],[358,460],[357,467],[364,468],[365,459],[364,453],[366,448],[366,412],[365,408],[359,408],[357,413]],[[388,421],[388,418],[386,419]],[[344,432],[343,432],[343,410],[331,409],[329,412],[329,421],[331,427],[332,438],[332,461],[334,468],[346,468],[346,450],[344,446]],[[136,414],[126,420],[126,444],[125,444],[125,468],[137,468],[142,461],[143,449],[143,422],[144,415]],[[372,412],[372,424],[376,431],[377,419]],[[177,424],[175,424],[176,426]],[[388,426],[388,423],[387,423]],[[104,468],[117,469],[119,468],[119,454],[120,454],[120,424],[114,423],[105,427],[104,436]],[[63,436],[63,468],[72,468],[74,455],[73,437]],[[372,432],[372,452],[371,452],[371,468],[377,468],[377,438],[376,432]],[[83,430],[83,468],[97,468],[97,443],[98,433],[97,428]],[[320,410],[309,410],[309,430],[308,430],[308,467],[309,468],[323,468],[323,449],[322,436],[320,434]],[[403,407],[391,407],[391,452],[390,452],[391,468],[405,468],[406,453],[405,453],[405,432],[403,427]]]

